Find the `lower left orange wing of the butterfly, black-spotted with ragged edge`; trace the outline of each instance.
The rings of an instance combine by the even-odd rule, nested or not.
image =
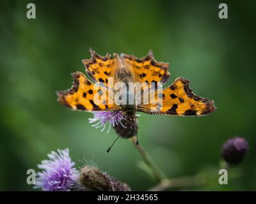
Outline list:
[[[112,111],[118,109],[113,100],[108,97],[108,89],[90,82],[79,71],[72,73],[74,83],[67,91],[57,92],[58,101],[73,110],[83,111]],[[102,103],[98,100],[102,99]]]

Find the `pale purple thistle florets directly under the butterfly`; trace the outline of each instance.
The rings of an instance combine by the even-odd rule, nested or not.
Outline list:
[[[108,131],[109,133],[111,125],[115,127],[115,125],[120,124],[124,128],[124,124],[122,124],[121,120],[123,119],[123,113],[122,111],[119,112],[93,112],[93,118],[89,119],[90,123],[94,123],[92,127],[95,128],[102,128],[101,131],[104,131],[106,128],[106,124],[109,123]]]

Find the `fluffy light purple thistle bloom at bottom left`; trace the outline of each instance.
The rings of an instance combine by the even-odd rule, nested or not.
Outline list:
[[[78,171],[73,166],[69,150],[58,149],[47,154],[49,160],[43,160],[38,164],[42,172],[37,173],[35,188],[42,188],[43,191],[69,191],[77,179]]]

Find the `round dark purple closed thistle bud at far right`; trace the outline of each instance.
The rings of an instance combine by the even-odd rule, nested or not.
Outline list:
[[[223,144],[221,155],[227,163],[236,164],[243,161],[248,149],[248,142],[244,138],[231,138]]]

